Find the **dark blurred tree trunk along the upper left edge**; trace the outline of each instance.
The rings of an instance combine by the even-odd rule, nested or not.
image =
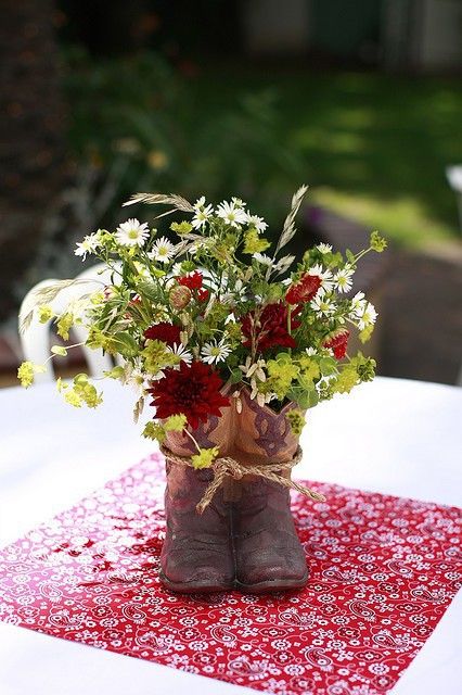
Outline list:
[[[3,0],[0,23],[0,319],[34,262],[64,176],[52,0]]]

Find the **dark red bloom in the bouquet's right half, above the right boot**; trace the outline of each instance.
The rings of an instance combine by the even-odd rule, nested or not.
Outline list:
[[[291,330],[300,326],[295,316],[301,309],[295,308],[291,316]],[[252,327],[255,312],[248,312],[241,324],[242,332],[247,338],[244,348],[252,348]],[[281,348],[296,348],[297,343],[287,331],[287,307],[282,302],[267,304],[260,314],[256,326],[257,350],[264,351],[280,345]]]

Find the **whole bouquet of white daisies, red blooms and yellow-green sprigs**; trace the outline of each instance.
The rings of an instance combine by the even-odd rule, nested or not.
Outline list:
[[[38,317],[53,320],[67,340],[72,327],[82,325],[88,348],[120,356],[123,364],[104,377],[137,387],[136,419],[146,401],[155,407],[146,438],[163,442],[175,430],[194,439],[191,430],[222,408],[240,412],[243,389],[275,412],[297,404],[287,417],[299,433],[307,408],[374,377],[374,359],[349,355],[348,340],[356,330],[365,342],[376,312],[363,292],[350,291],[360,258],[386,247],[373,231],[360,253],[347,250],[344,256],[320,243],[294,267],[295,257],[283,250],[296,231],[306,191],[304,186],[294,194],[272,251],[267,224],[238,198],[214,206],[204,197],[191,204],[180,195],[133,195],[126,204],[166,204],[164,215],[181,212],[184,219],[171,223],[171,238],[136,218],[114,232],[99,229],[85,237],[75,253],[102,261],[112,269],[111,283],[85,293],[85,282],[77,280],[81,296],[57,316],[51,303],[73,281],[39,290],[21,317],[22,330]],[[53,346],[50,358],[68,349]],[[18,378],[27,387],[44,368],[23,363]],[[95,382],[80,374],[72,383],[59,380],[57,389],[74,406],[95,407],[102,401]],[[196,450],[196,468],[218,455],[217,447]]]

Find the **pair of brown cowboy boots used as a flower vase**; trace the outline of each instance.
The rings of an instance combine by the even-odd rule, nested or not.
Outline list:
[[[298,441],[285,414],[293,406],[278,414],[260,407],[246,391],[241,401],[241,413],[232,403],[222,417],[210,417],[192,432],[200,446],[219,446],[220,456],[244,466],[292,459]],[[179,456],[194,453],[182,433],[169,432],[165,444]],[[182,593],[266,593],[304,586],[308,568],[288,490],[259,476],[227,478],[201,515],[196,505],[213,477],[210,469],[194,470],[167,459],[163,584]]]

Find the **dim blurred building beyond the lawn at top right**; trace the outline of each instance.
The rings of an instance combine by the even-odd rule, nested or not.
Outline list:
[[[320,51],[388,70],[462,68],[461,0],[247,0],[242,16],[253,54]]]

